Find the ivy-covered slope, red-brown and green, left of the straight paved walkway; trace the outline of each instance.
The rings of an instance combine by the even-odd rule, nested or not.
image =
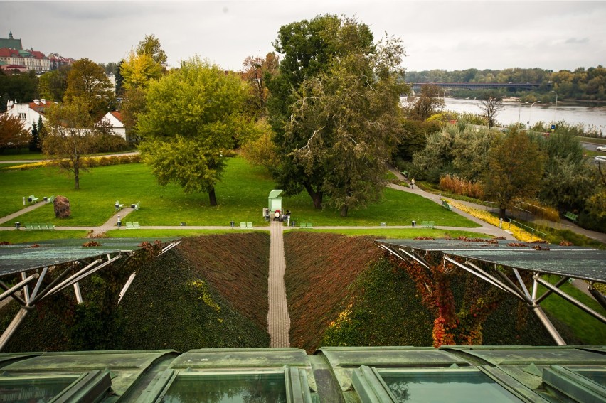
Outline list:
[[[78,323],[68,288],[26,318],[6,352],[268,347],[268,255],[267,233],[185,239],[139,268],[111,322],[114,327],[102,329],[111,335],[105,345],[83,345],[73,333]],[[85,305],[94,306],[99,278],[81,283]],[[12,319],[6,311],[16,308],[16,303],[3,308],[5,327]],[[96,323],[94,316],[87,320]],[[99,331],[92,327],[79,326],[78,336]]]

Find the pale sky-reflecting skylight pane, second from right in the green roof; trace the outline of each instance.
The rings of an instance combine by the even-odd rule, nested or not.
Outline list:
[[[482,372],[380,372],[398,402],[520,402]]]

